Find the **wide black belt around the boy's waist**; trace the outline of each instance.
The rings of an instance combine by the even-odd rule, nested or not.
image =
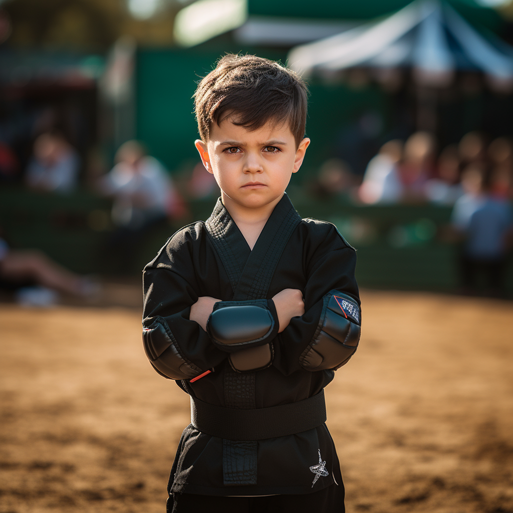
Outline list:
[[[241,410],[214,406],[191,396],[191,424],[225,440],[264,440],[294,435],[326,422],[324,390],[296,403]]]

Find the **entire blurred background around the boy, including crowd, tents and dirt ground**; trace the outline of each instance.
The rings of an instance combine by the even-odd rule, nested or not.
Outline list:
[[[189,401],[141,270],[218,197],[191,96],[225,52],[306,78],[287,191],[358,250],[348,513],[512,513],[512,0],[0,0],[0,513],[164,510]]]

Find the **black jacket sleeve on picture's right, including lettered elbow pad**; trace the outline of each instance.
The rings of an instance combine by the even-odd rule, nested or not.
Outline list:
[[[274,343],[273,366],[284,374],[299,369],[337,369],[360,339],[361,311],[356,251],[328,223],[323,242],[306,262],[305,313],[294,317]]]

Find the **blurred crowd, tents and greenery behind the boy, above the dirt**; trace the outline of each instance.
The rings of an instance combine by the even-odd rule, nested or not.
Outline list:
[[[191,96],[225,52],[308,80],[288,192],[357,247],[362,286],[513,293],[506,0],[3,0],[0,41],[0,238],[30,267],[4,262],[8,294],[92,294],[84,275],[139,276],[206,219]]]

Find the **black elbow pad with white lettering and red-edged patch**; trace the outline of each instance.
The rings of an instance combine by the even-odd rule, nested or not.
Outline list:
[[[312,342],[300,357],[307,370],[338,369],[358,347],[361,331],[360,307],[343,292],[331,290],[324,297],[323,312]]]

